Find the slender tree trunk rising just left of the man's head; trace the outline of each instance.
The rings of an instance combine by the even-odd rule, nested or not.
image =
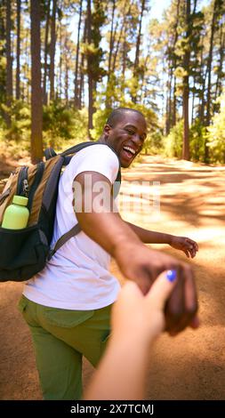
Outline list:
[[[92,43],[92,8],[91,0],[87,0],[87,42]],[[92,129],[93,117],[93,79],[92,79],[92,60],[90,54],[87,57],[87,73],[88,73],[88,132],[91,139],[90,129]]]

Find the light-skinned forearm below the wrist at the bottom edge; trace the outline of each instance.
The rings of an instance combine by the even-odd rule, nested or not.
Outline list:
[[[109,342],[84,399],[143,399],[149,344]]]

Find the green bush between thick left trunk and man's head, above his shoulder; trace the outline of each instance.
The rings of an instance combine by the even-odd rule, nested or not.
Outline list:
[[[73,143],[87,139],[87,111],[66,107],[60,100],[44,106],[44,146],[61,148],[72,140]]]

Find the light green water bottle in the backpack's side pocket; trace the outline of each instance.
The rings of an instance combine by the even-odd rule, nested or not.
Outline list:
[[[29,211],[27,208],[28,197],[15,195],[12,205],[9,205],[4,212],[2,228],[23,229],[28,225]]]

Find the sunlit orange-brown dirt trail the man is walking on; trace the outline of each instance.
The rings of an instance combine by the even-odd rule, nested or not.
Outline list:
[[[128,181],[136,181],[134,184]],[[141,181],[160,181],[160,217],[145,200]],[[201,327],[176,338],[162,335],[149,354],[146,399],[225,398],[225,168],[144,157],[124,173],[124,217],[148,229],[189,236],[199,244],[193,265],[199,294]],[[127,213],[143,190],[146,206]],[[158,189],[158,186],[155,185]],[[157,193],[155,189],[155,193]],[[157,201],[155,199],[155,207]],[[155,245],[159,248],[158,245]],[[185,259],[181,253],[160,247]],[[121,278],[112,263],[113,272]],[[22,284],[0,284],[0,398],[41,399],[35,358],[27,326],[16,309]],[[84,384],[92,367],[84,361]]]

